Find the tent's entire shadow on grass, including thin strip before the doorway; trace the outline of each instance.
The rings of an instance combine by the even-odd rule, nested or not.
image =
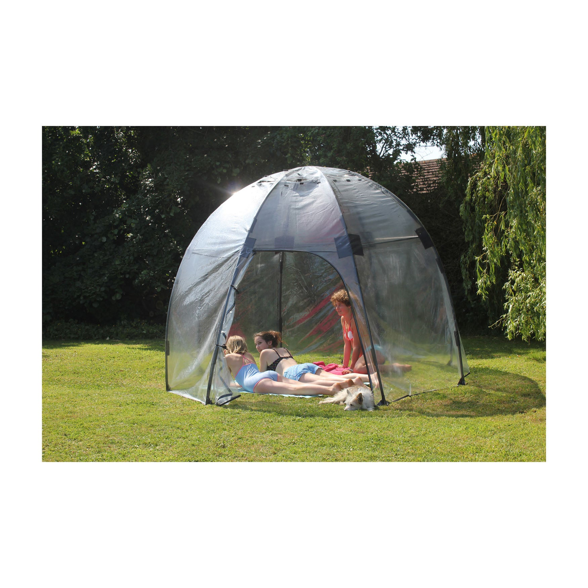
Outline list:
[[[226,405],[228,410],[250,410],[283,416],[333,419],[390,418],[390,413],[413,413],[430,417],[486,417],[516,415],[545,406],[539,385],[526,376],[479,368],[468,377],[466,386],[455,386],[408,397],[374,412],[345,412],[343,406],[318,406],[320,398],[290,398],[242,395]]]

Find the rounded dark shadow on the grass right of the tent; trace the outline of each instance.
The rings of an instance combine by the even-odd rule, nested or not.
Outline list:
[[[396,409],[426,416],[480,417],[516,415],[545,406],[537,383],[526,376],[477,368],[466,386],[425,392],[399,400]]]

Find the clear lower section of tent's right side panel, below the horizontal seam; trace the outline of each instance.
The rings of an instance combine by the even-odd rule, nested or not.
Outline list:
[[[433,251],[416,239],[366,249],[365,257],[359,279],[373,342],[386,358],[386,385],[410,393],[456,385],[459,358]],[[369,279],[373,272],[389,277],[385,292]]]

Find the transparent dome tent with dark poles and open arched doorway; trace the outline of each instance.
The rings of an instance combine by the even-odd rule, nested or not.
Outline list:
[[[358,173],[308,166],[246,186],[196,233],[169,302],[166,389],[205,404],[238,398],[220,348],[231,335],[255,353],[253,334],[275,329],[295,358],[342,357],[330,303],[340,288],[378,376],[376,402],[465,383],[449,286],[419,219]],[[412,369],[386,369],[395,363]]]

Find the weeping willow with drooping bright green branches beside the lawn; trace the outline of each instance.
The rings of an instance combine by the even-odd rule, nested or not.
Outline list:
[[[469,181],[460,213],[469,244],[464,282],[502,306],[495,325],[509,339],[546,336],[546,129],[485,129],[485,158]]]

